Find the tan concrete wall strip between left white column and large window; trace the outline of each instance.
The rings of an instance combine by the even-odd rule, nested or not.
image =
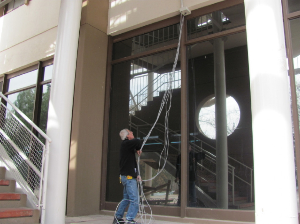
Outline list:
[[[74,90],[67,215],[98,214],[108,0],[83,1]]]

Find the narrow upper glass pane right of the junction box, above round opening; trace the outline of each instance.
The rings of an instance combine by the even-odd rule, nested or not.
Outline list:
[[[244,4],[240,4],[188,20],[188,39],[222,32],[245,24],[245,7]]]

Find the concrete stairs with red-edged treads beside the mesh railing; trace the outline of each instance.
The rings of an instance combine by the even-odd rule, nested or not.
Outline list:
[[[16,181],[6,180],[6,168],[0,167],[0,224],[37,224],[40,211],[26,206],[26,194],[17,193]]]

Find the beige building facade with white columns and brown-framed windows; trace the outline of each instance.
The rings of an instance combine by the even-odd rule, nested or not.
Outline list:
[[[298,223],[298,1],[74,2],[0,2],[2,93],[53,140],[48,223],[114,214],[124,128],[147,213]]]

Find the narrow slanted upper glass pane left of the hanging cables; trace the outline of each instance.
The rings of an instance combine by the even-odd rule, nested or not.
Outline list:
[[[113,44],[112,59],[119,59],[177,43],[179,24],[151,31]]]

